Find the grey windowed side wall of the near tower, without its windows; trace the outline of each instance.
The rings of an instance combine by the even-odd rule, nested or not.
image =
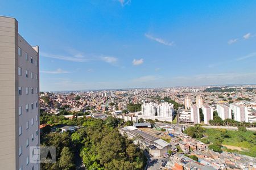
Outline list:
[[[38,169],[39,164],[29,163],[26,164],[27,158],[30,155],[30,147],[39,145],[39,55],[38,47],[33,48],[22,36],[18,36],[18,45],[22,50],[22,56],[18,56],[18,66],[22,68],[22,75],[18,76],[18,87],[22,87],[22,95],[19,95],[19,107],[22,107],[22,115],[19,117],[19,127],[22,126],[22,135],[19,136],[19,147],[22,146],[22,155],[19,156],[19,167],[23,169]],[[36,50],[35,50],[36,49]],[[28,54],[28,60],[26,59]],[[31,63],[31,57],[33,63]],[[38,62],[36,65],[35,63]],[[28,70],[28,78],[26,77],[25,71]],[[31,78],[33,73],[33,78]],[[35,75],[38,78],[35,78]],[[28,95],[26,95],[26,87],[28,87]],[[34,94],[31,93],[31,88],[34,90]],[[37,88],[37,91],[36,91]],[[36,107],[38,102],[38,107]],[[31,108],[33,103],[34,108]],[[26,112],[26,105],[28,104],[28,112]],[[36,115],[38,121],[36,121]],[[34,119],[34,124],[31,124],[31,120]],[[29,128],[26,129],[26,124],[29,124]],[[38,130],[38,135],[36,135]],[[34,134],[34,140],[32,141],[31,135]],[[26,146],[27,139],[29,146]]]

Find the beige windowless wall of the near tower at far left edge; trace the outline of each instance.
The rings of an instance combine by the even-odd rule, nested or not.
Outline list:
[[[18,22],[0,17],[0,169],[18,169]]]

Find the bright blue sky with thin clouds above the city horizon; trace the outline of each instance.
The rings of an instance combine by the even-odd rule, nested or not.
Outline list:
[[[40,90],[256,83],[256,1],[12,1]]]

